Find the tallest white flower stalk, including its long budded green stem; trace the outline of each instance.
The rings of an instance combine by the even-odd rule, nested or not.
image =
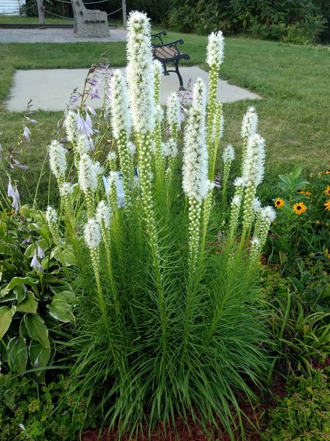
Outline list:
[[[152,69],[150,21],[146,14],[132,12],[127,21],[127,83],[138,149],[141,202],[152,253],[162,327],[162,348],[166,354],[166,304],[162,282],[155,207],[152,200],[151,150],[155,128],[155,82]]]

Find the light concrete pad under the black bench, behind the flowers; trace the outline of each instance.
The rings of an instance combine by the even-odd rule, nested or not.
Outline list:
[[[122,68],[125,69],[125,68]],[[208,74],[198,66],[180,68],[184,85],[189,80],[191,84],[196,82],[198,77],[203,78],[208,84]],[[6,103],[6,110],[10,112],[22,112],[26,109],[29,99],[33,100],[35,110],[65,110],[73,89],[81,90],[84,87],[84,80],[88,73],[87,69],[39,69],[39,70],[17,70],[14,76],[13,87],[10,90],[10,98]],[[162,76],[161,104],[166,104],[167,97],[172,91],[179,87],[178,77],[171,73]],[[191,93],[187,93],[187,96]],[[222,103],[231,103],[237,100],[258,100],[261,97],[253,94],[242,87],[233,86],[228,82],[220,80],[217,98]],[[102,105],[102,99],[93,99],[90,104],[97,108]]]

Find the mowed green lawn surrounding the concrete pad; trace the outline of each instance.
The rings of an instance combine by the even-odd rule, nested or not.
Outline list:
[[[186,65],[205,65],[207,38],[169,32],[168,40],[184,38],[182,52],[191,59]],[[102,52],[108,52],[111,66],[125,66],[125,43],[58,43],[0,45],[0,100],[2,108],[16,69],[87,68]],[[183,63],[182,63],[183,64]],[[330,50],[327,47],[304,47],[279,43],[226,38],[225,61],[221,78],[246,87],[262,100],[244,100],[224,105],[225,136],[240,154],[239,136],[242,116],[249,105],[259,114],[259,133],[267,144],[267,165],[262,198],[270,200],[276,190],[277,175],[301,166],[309,171],[330,167]],[[69,98],[69,97],[68,97]],[[0,143],[14,145],[22,130],[22,113],[3,110],[0,120]],[[26,181],[31,188],[47,151],[56,135],[58,112],[36,112],[31,142],[24,144],[22,162],[30,166]],[[1,175],[3,176],[3,174]],[[17,175],[18,177],[18,175]],[[46,182],[43,184],[47,188]],[[40,198],[45,202],[45,196]]]

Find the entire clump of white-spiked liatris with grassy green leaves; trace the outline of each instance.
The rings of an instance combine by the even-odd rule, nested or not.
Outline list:
[[[265,141],[250,109],[242,177],[233,177],[217,102],[220,31],[207,47],[208,95],[199,79],[182,123],[176,94],[166,112],[158,103],[162,70],[152,62],[148,17],[131,13],[127,27],[127,75],[116,70],[104,84],[104,133],[83,101],[66,113],[67,144],[49,147],[64,210],[49,207],[47,221],[54,255],[63,265],[74,256],[79,298],[72,375],[82,393],[101,394],[105,424],[119,436],[189,412],[205,430],[213,424],[244,439],[237,396],[253,403],[268,366],[258,261],[275,214],[256,204]]]

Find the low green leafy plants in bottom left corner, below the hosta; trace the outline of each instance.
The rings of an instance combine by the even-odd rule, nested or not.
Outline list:
[[[0,441],[72,441],[77,432],[95,427],[97,412],[73,382],[58,375],[40,386],[31,378],[0,374]]]

